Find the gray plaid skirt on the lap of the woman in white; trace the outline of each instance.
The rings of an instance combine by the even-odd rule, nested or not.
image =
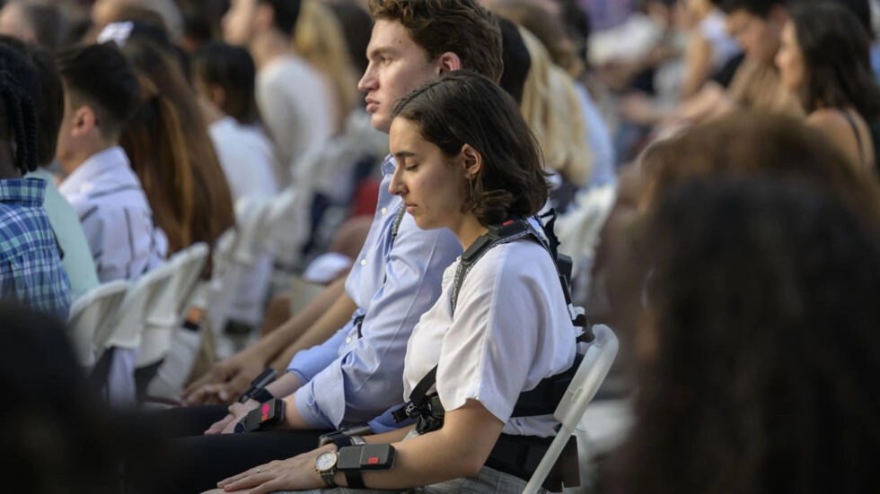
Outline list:
[[[457,492],[470,494],[493,494],[497,492],[523,492],[525,481],[508,473],[498,472],[484,466],[475,477],[453,479],[425,487],[405,490],[380,490],[380,489],[348,489],[337,487],[334,489],[300,490],[297,492],[308,494],[455,494]],[[541,490],[543,492],[543,490]],[[294,491],[277,491],[274,494],[295,494]]]

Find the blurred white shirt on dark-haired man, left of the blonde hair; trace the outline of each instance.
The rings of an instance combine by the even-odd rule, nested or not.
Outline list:
[[[277,147],[282,185],[296,177],[295,160],[333,135],[336,108],[329,87],[321,73],[293,55],[257,73],[257,106]]]

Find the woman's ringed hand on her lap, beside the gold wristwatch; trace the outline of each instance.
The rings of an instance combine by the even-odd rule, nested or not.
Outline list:
[[[263,494],[276,490],[320,489],[327,484],[314,469],[315,458],[324,451],[332,451],[335,448],[336,446],[327,445],[284,461],[262,464],[217,482],[217,487],[226,492],[244,490],[247,494]]]

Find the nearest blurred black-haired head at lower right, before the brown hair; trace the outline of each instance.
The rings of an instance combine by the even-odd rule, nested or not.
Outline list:
[[[643,226],[656,347],[605,491],[873,490],[876,218],[763,172],[678,182]]]

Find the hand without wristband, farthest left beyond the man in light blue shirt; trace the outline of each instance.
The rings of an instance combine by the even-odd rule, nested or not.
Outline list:
[[[266,368],[265,359],[249,350],[240,351],[214,364],[204,376],[183,390],[183,400],[187,404],[197,405],[229,403],[237,398]]]

